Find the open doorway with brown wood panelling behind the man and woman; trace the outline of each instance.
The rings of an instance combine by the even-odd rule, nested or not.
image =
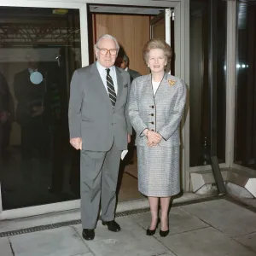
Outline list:
[[[116,66],[128,57],[129,69],[149,73],[143,61],[143,46],[150,38],[161,38],[174,48],[174,11],[165,8],[88,5],[90,64],[95,61],[93,46],[103,34],[117,38],[120,49]],[[170,32],[171,30],[171,32]],[[172,61],[174,64],[174,61]],[[174,74],[174,65],[172,74]],[[120,163],[119,201],[143,198],[137,190],[137,148],[132,136],[125,160]]]

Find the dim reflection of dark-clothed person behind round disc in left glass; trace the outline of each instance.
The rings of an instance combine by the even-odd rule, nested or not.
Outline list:
[[[26,52],[27,68],[15,74],[14,90],[17,99],[16,121],[21,127],[21,154],[23,159],[43,157],[49,147],[47,72],[39,67],[35,49]],[[34,84],[31,74],[39,72],[43,79]]]

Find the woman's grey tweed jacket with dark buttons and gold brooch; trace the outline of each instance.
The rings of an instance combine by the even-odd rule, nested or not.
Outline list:
[[[186,84],[165,74],[155,95],[151,74],[134,79],[131,84],[128,113],[137,132],[137,145],[146,146],[143,131],[148,128],[163,137],[160,146],[180,145],[179,124],[186,102]]]

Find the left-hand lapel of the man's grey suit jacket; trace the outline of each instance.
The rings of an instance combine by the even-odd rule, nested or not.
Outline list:
[[[96,67],[96,62],[91,64],[90,73],[91,84],[93,84],[93,86],[96,88],[96,92],[103,97],[104,101],[108,103],[109,107],[113,108],[108,96],[108,91],[106,90],[102,82],[101,75]]]

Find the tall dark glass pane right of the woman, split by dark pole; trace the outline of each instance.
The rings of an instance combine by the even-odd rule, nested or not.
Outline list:
[[[217,1],[217,154],[218,161],[225,161],[225,49],[226,2],[221,0],[190,1],[190,166],[206,166],[211,163],[211,101],[209,73],[210,6]]]

